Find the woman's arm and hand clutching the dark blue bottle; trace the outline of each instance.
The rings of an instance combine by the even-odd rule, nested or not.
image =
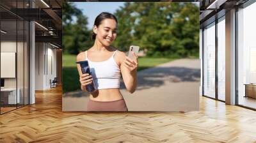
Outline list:
[[[77,55],[76,61],[83,61],[84,59],[84,52],[81,52]],[[77,64],[77,71],[79,73],[79,81],[81,84],[81,90],[86,91],[86,85],[92,84],[92,75],[89,75],[89,73],[83,74],[81,71],[80,64]]]

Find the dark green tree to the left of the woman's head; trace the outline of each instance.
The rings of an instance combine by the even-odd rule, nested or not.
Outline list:
[[[74,21],[76,17],[76,21]],[[74,3],[63,3],[63,52],[78,54],[92,46],[90,31],[86,25],[88,18],[76,8]]]

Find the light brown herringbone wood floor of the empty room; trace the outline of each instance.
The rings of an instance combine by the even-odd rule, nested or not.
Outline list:
[[[1,115],[0,142],[256,142],[256,112],[205,97],[195,112],[62,112],[57,87]]]

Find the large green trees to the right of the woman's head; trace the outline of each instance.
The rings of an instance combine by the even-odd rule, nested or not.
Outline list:
[[[148,56],[198,55],[199,8],[194,3],[125,3],[116,11],[115,47],[147,49]]]

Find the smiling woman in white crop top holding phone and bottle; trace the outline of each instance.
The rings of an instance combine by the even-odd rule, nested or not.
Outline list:
[[[116,39],[116,31],[116,17],[111,13],[100,13],[94,22],[93,47],[77,55],[77,61],[88,60],[92,72],[92,75],[83,74],[77,64],[81,89],[86,91],[86,85],[92,81],[97,89],[90,93],[88,111],[128,110],[119,89],[121,75],[127,91],[134,93],[136,90],[138,56],[133,53],[134,58],[131,59],[110,46]]]

